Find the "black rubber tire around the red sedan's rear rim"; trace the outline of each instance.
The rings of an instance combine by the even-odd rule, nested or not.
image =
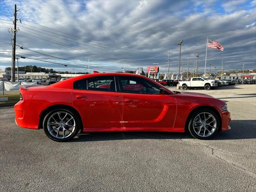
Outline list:
[[[71,120],[71,121],[74,122],[72,132],[71,132],[70,130],[67,130],[69,126],[67,126],[66,124],[64,125],[64,123],[62,123],[62,124],[63,124],[64,129],[66,128],[66,130],[64,130],[63,128],[59,128],[60,132],[61,132],[61,130],[62,130],[62,132],[64,132],[64,136],[65,136],[65,133],[70,132],[70,134],[68,134],[68,136],[65,137],[65,138],[58,138],[58,132],[59,132],[59,130],[58,130],[58,131],[56,130],[56,131],[57,131],[57,134],[56,134],[57,137],[56,137],[56,136],[53,136],[52,134],[50,134],[50,131],[48,130],[48,125],[47,125],[48,120],[49,120],[49,118],[51,118],[52,115],[56,114],[57,112],[60,113],[60,115],[61,115],[61,114],[65,114],[65,113],[70,114],[70,117],[73,117],[73,119],[74,119],[74,120]],[[66,117],[66,118],[68,118],[68,117]],[[57,117],[55,116],[54,119],[58,119],[58,116],[57,116]],[[58,119],[58,120],[59,120],[59,119]],[[56,120],[56,121],[58,121],[58,120]],[[65,120],[65,119],[64,119],[64,120]],[[62,120],[61,120],[61,122],[62,122]],[[64,122],[64,121],[63,121],[63,122]],[[60,122],[58,122],[58,123],[60,123]],[[57,125],[57,124],[56,124],[56,125]],[[55,127],[60,126],[60,124],[58,124],[57,126],[56,126],[56,125],[54,125],[54,126],[55,126]],[[63,109],[63,108],[62,108],[62,109],[55,109],[55,110],[52,110],[52,111],[48,112],[48,114],[46,114],[46,116],[44,117],[43,128],[44,128],[45,134],[46,134],[51,140],[58,141],[58,142],[64,142],[64,141],[70,140],[71,138],[73,138],[74,136],[76,136],[76,134],[77,134],[77,133],[79,132],[79,130],[81,129],[81,122],[80,122],[80,118],[78,118],[77,114],[74,113],[73,111],[66,110],[66,109]],[[54,130],[54,131],[52,131],[52,132],[56,133],[56,131]],[[60,135],[61,135],[61,134],[60,134]],[[62,134],[62,136],[63,136],[63,134]],[[63,137],[64,137],[64,136],[63,136]]]

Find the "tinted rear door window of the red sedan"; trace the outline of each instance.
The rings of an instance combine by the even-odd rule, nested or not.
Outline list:
[[[98,76],[88,78],[88,90],[116,92],[114,76]]]

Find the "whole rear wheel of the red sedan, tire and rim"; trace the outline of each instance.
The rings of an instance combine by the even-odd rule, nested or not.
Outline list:
[[[45,134],[54,141],[66,141],[78,133],[80,119],[66,109],[58,109],[49,112],[43,121]]]

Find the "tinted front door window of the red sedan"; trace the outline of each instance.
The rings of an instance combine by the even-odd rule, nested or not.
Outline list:
[[[119,76],[121,92],[136,94],[160,94],[160,87],[140,77]]]

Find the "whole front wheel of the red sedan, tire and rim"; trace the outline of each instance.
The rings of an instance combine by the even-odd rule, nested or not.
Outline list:
[[[194,138],[207,140],[212,138],[220,128],[220,119],[211,109],[197,110],[190,116],[188,130]]]

